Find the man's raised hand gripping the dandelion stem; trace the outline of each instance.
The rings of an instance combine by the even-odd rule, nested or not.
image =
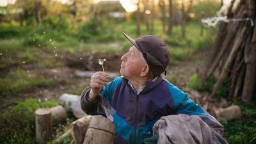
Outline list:
[[[109,82],[108,74],[106,72],[96,72],[92,75],[90,86],[92,90],[89,93],[91,100],[95,99],[99,95],[100,89],[106,86]]]

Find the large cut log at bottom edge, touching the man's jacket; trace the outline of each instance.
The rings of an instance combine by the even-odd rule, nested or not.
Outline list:
[[[115,127],[103,116],[93,116],[84,137],[83,144],[111,144]]]

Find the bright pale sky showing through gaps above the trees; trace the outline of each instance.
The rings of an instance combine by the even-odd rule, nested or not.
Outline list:
[[[67,3],[68,0],[56,0],[61,3]],[[95,3],[98,3],[102,0],[93,0]],[[104,1],[104,0],[103,0]],[[137,9],[136,1],[138,0],[120,0],[120,3],[127,12],[132,12]],[[231,0],[224,0],[224,4],[230,3]],[[8,3],[15,3],[15,0],[0,0],[0,6],[6,6]]]

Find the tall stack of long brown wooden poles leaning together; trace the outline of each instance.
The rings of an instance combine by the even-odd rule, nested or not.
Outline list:
[[[231,80],[228,97],[239,97],[250,102],[256,95],[256,1],[241,0],[234,12],[232,0],[227,13],[228,19],[248,19],[221,23],[213,48],[211,65],[205,72],[205,81],[220,71],[211,96],[214,97],[223,81]]]

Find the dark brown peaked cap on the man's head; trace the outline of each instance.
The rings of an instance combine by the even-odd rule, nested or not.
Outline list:
[[[157,36],[147,35],[137,40],[133,40],[130,36],[123,32],[125,38],[127,38],[132,45],[134,45],[148,63],[150,70],[154,76],[159,76],[164,72],[166,75],[165,68],[168,66],[170,61],[169,51],[167,45],[160,40]]]

